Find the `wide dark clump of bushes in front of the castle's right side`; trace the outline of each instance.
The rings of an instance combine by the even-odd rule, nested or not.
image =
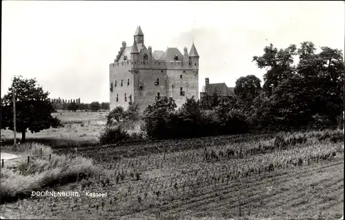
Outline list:
[[[199,101],[188,98],[175,111],[175,101],[161,99],[146,109],[144,131],[151,138],[204,137],[248,132],[240,111],[230,110],[230,102],[220,102],[213,110],[201,110]]]

